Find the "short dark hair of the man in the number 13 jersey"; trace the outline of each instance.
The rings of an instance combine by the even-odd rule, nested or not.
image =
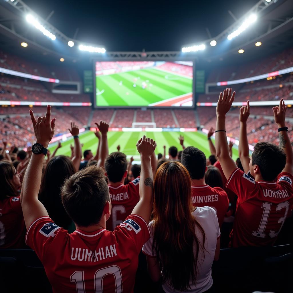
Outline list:
[[[255,144],[251,155],[252,165],[258,165],[265,181],[274,180],[286,165],[286,154],[277,145],[270,142]]]

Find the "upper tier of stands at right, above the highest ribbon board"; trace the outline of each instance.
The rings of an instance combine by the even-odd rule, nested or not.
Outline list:
[[[207,83],[229,81],[257,76],[293,66],[293,48],[275,53],[257,62],[249,62],[242,66],[230,66],[214,69],[207,79]]]

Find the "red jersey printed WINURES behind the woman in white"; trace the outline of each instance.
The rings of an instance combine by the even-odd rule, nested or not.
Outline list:
[[[229,207],[227,193],[222,188],[212,188],[209,185],[192,186],[191,202],[194,207],[212,207],[217,213],[221,228]]]

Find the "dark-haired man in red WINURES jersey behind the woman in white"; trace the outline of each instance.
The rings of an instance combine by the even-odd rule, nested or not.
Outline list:
[[[181,163],[188,170],[191,177],[192,205],[194,207],[208,206],[215,209],[219,227],[221,228],[229,207],[229,199],[227,193],[222,188],[212,188],[205,183],[205,172],[207,171],[205,154],[195,147],[187,147],[182,152]]]

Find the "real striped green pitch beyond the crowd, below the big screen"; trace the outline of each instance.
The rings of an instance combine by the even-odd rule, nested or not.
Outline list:
[[[178,137],[179,135],[184,136],[185,147],[193,146],[201,149],[208,157],[210,155],[209,145],[207,142],[207,135],[202,132],[108,132],[108,145],[109,153],[117,151],[117,146],[120,145],[120,151],[127,155],[127,158],[131,156],[134,159],[139,159],[139,153],[136,149],[137,141],[143,136],[155,139],[157,143],[156,154],[163,154],[163,146],[166,146],[166,152],[168,155],[168,148],[175,146],[178,150],[182,150]],[[80,141],[84,144],[82,150],[90,149],[93,154],[96,154],[98,146],[98,139],[95,134],[91,131],[84,132],[79,135]],[[62,148],[57,151],[57,155],[70,156],[70,144],[74,144],[73,138],[62,142]],[[52,144],[49,149],[51,153],[56,148],[56,143]],[[233,148],[233,159],[238,158],[238,149]]]

